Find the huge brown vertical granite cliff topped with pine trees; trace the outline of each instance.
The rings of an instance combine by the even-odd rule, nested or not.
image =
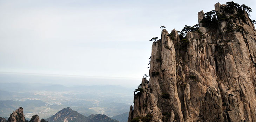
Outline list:
[[[162,31],[128,122],[256,122],[256,32],[247,12],[215,4],[185,39]],[[188,42],[187,42],[188,41]]]

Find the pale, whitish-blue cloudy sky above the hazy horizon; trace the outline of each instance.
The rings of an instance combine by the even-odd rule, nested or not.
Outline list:
[[[0,72],[139,84],[149,70],[149,40],[161,36],[160,26],[169,32],[193,26],[197,13],[214,10],[217,2],[227,1],[0,0]],[[234,2],[251,7],[256,20],[255,0]]]

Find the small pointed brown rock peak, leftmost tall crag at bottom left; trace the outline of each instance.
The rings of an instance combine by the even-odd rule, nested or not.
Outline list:
[[[23,113],[23,108],[20,107],[19,109],[15,110],[10,115],[7,122],[25,122],[25,115]]]

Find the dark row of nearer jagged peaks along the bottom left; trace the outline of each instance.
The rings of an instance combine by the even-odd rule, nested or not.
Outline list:
[[[25,115],[23,114],[23,108],[20,107],[16,109],[6,121],[5,118],[0,117],[0,122],[119,122],[117,120],[113,120],[107,115],[104,114],[92,114],[88,117],[72,110],[67,107],[60,110],[55,115],[49,117],[48,119],[39,119],[38,115],[33,115],[31,120],[28,121],[25,119]]]

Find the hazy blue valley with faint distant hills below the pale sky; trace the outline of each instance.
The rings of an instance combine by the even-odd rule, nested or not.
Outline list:
[[[49,77],[44,75],[34,75],[30,79],[29,76],[32,77],[30,74],[0,74],[0,76],[1,79],[10,77],[9,79],[13,81],[15,79],[17,81],[49,80]],[[54,78],[65,79],[62,76]],[[78,85],[75,81],[70,85],[67,83],[66,85],[50,84],[49,81],[48,83],[2,82],[0,86],[0,116],[8,117],[15,109],[22,106],[25,117],[28,119],[35,114],[46,119],[66,107],[85,116],[91,114],[106,114],[110,117],[120,115],[129,112],[129,107],[133,104],[133,90],[135,89],[120,85]]]

